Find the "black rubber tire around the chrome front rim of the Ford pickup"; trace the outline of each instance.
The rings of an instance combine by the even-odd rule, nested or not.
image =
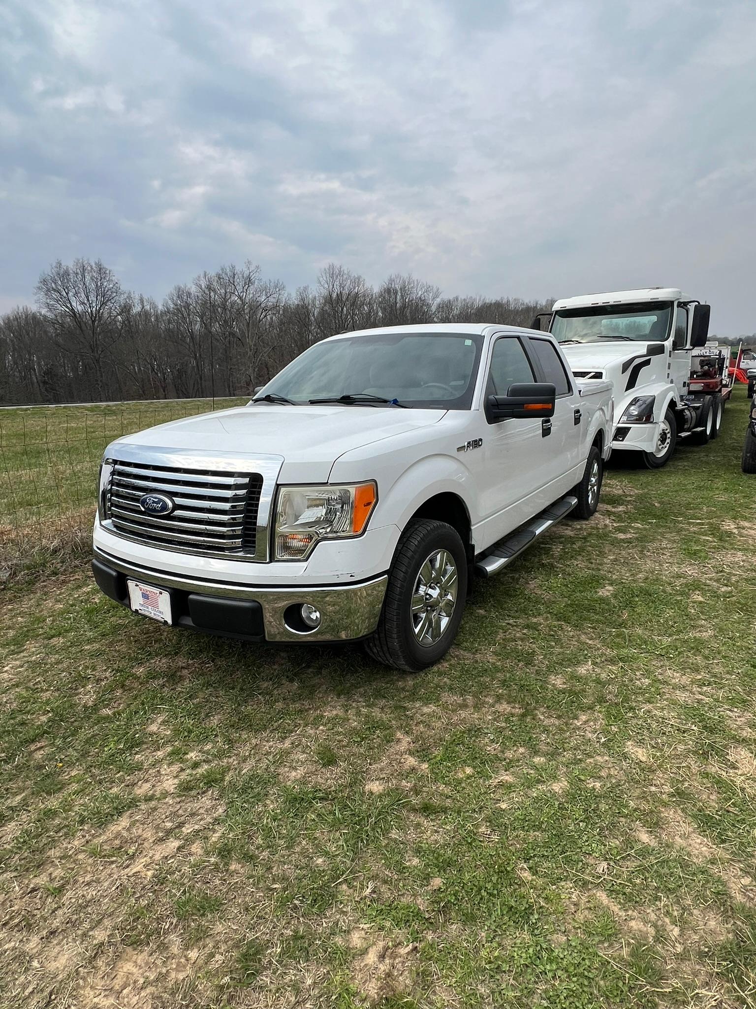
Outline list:
[[[420,644],[415,631],[412,596],[424,565],[437,551],[446,551],[457,567],[457,595],[440,637]],[[434,582],[429,583],[428,591]],[[445,522],[413,519],[401,535],[388,575],[383,609],[372,638],[365,642],[368,654],[384,666],[416,673],[438,662],[452,647],[462,622],[468,588],[468,559],[460,534]],[[427,600],[427,594],[425,595]],[[425,608],[425,613],[429,610]],[[440,614],[443,606],[435,607]],[[415,614],[418,623],[422,616]],[[446,614],[445,614],[446,615]],[[432,623],[432,621],[431,621]]]

